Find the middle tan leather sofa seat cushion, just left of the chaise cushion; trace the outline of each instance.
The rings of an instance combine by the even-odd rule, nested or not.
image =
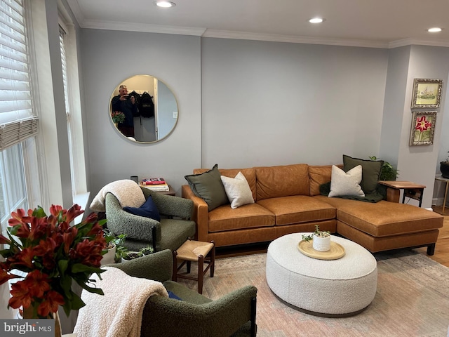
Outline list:
[[[274,213],[279,226],[335,218],[333,206],[306,195],[263,199],[257,204]]]

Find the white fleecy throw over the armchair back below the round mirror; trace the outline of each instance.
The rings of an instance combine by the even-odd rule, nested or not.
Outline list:
[[[100,192],[95,195],[89,208],[94,212],[105,212],[106,194],[112,193],[119,200],[120,206],[140,207],[145,203],[145,195],[140,186],[133,180],[116,180],[102,187]]]

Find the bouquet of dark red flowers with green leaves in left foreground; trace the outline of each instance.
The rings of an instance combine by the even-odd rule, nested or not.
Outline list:
[[[70,209],[52,205],[50,216],[39,206],[36,209],[18,209],[8,220],[8,237],[0,234],[0,250],[6,260],[0,262],[0,284],[21,278],[11,285],[8,308],[22,307],[25,318],[53,317],[59,305],[67,316],[85,303],[72,291],[72,280],[86,291],[103,294],[90,279],[99,275],[100,260],[105,249],[102,224],[95,213],[78,225],[69,224],[84,211],[75,204]],[[17,275],[17,270],[26,276]],[[91,284],[92,286],[89,286]]]

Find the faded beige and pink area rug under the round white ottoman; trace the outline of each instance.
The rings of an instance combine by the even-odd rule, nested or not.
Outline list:
[[[449,268],[413,250],[377,253],[377,293],[354,317],[307,315],[282,303],[265,279],[266,253],[215,261],[203,295],[216,299],[241,286],[257,287],[257,336],[446,337],[449,328]],[[192,272],[194,266],[192,265]],[[196,282],[179,280],[196,289]]]

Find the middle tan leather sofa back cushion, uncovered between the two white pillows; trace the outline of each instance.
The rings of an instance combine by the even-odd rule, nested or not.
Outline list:
[[[256,167],[256,200],[309,195],[308,168],[307,164]]]

